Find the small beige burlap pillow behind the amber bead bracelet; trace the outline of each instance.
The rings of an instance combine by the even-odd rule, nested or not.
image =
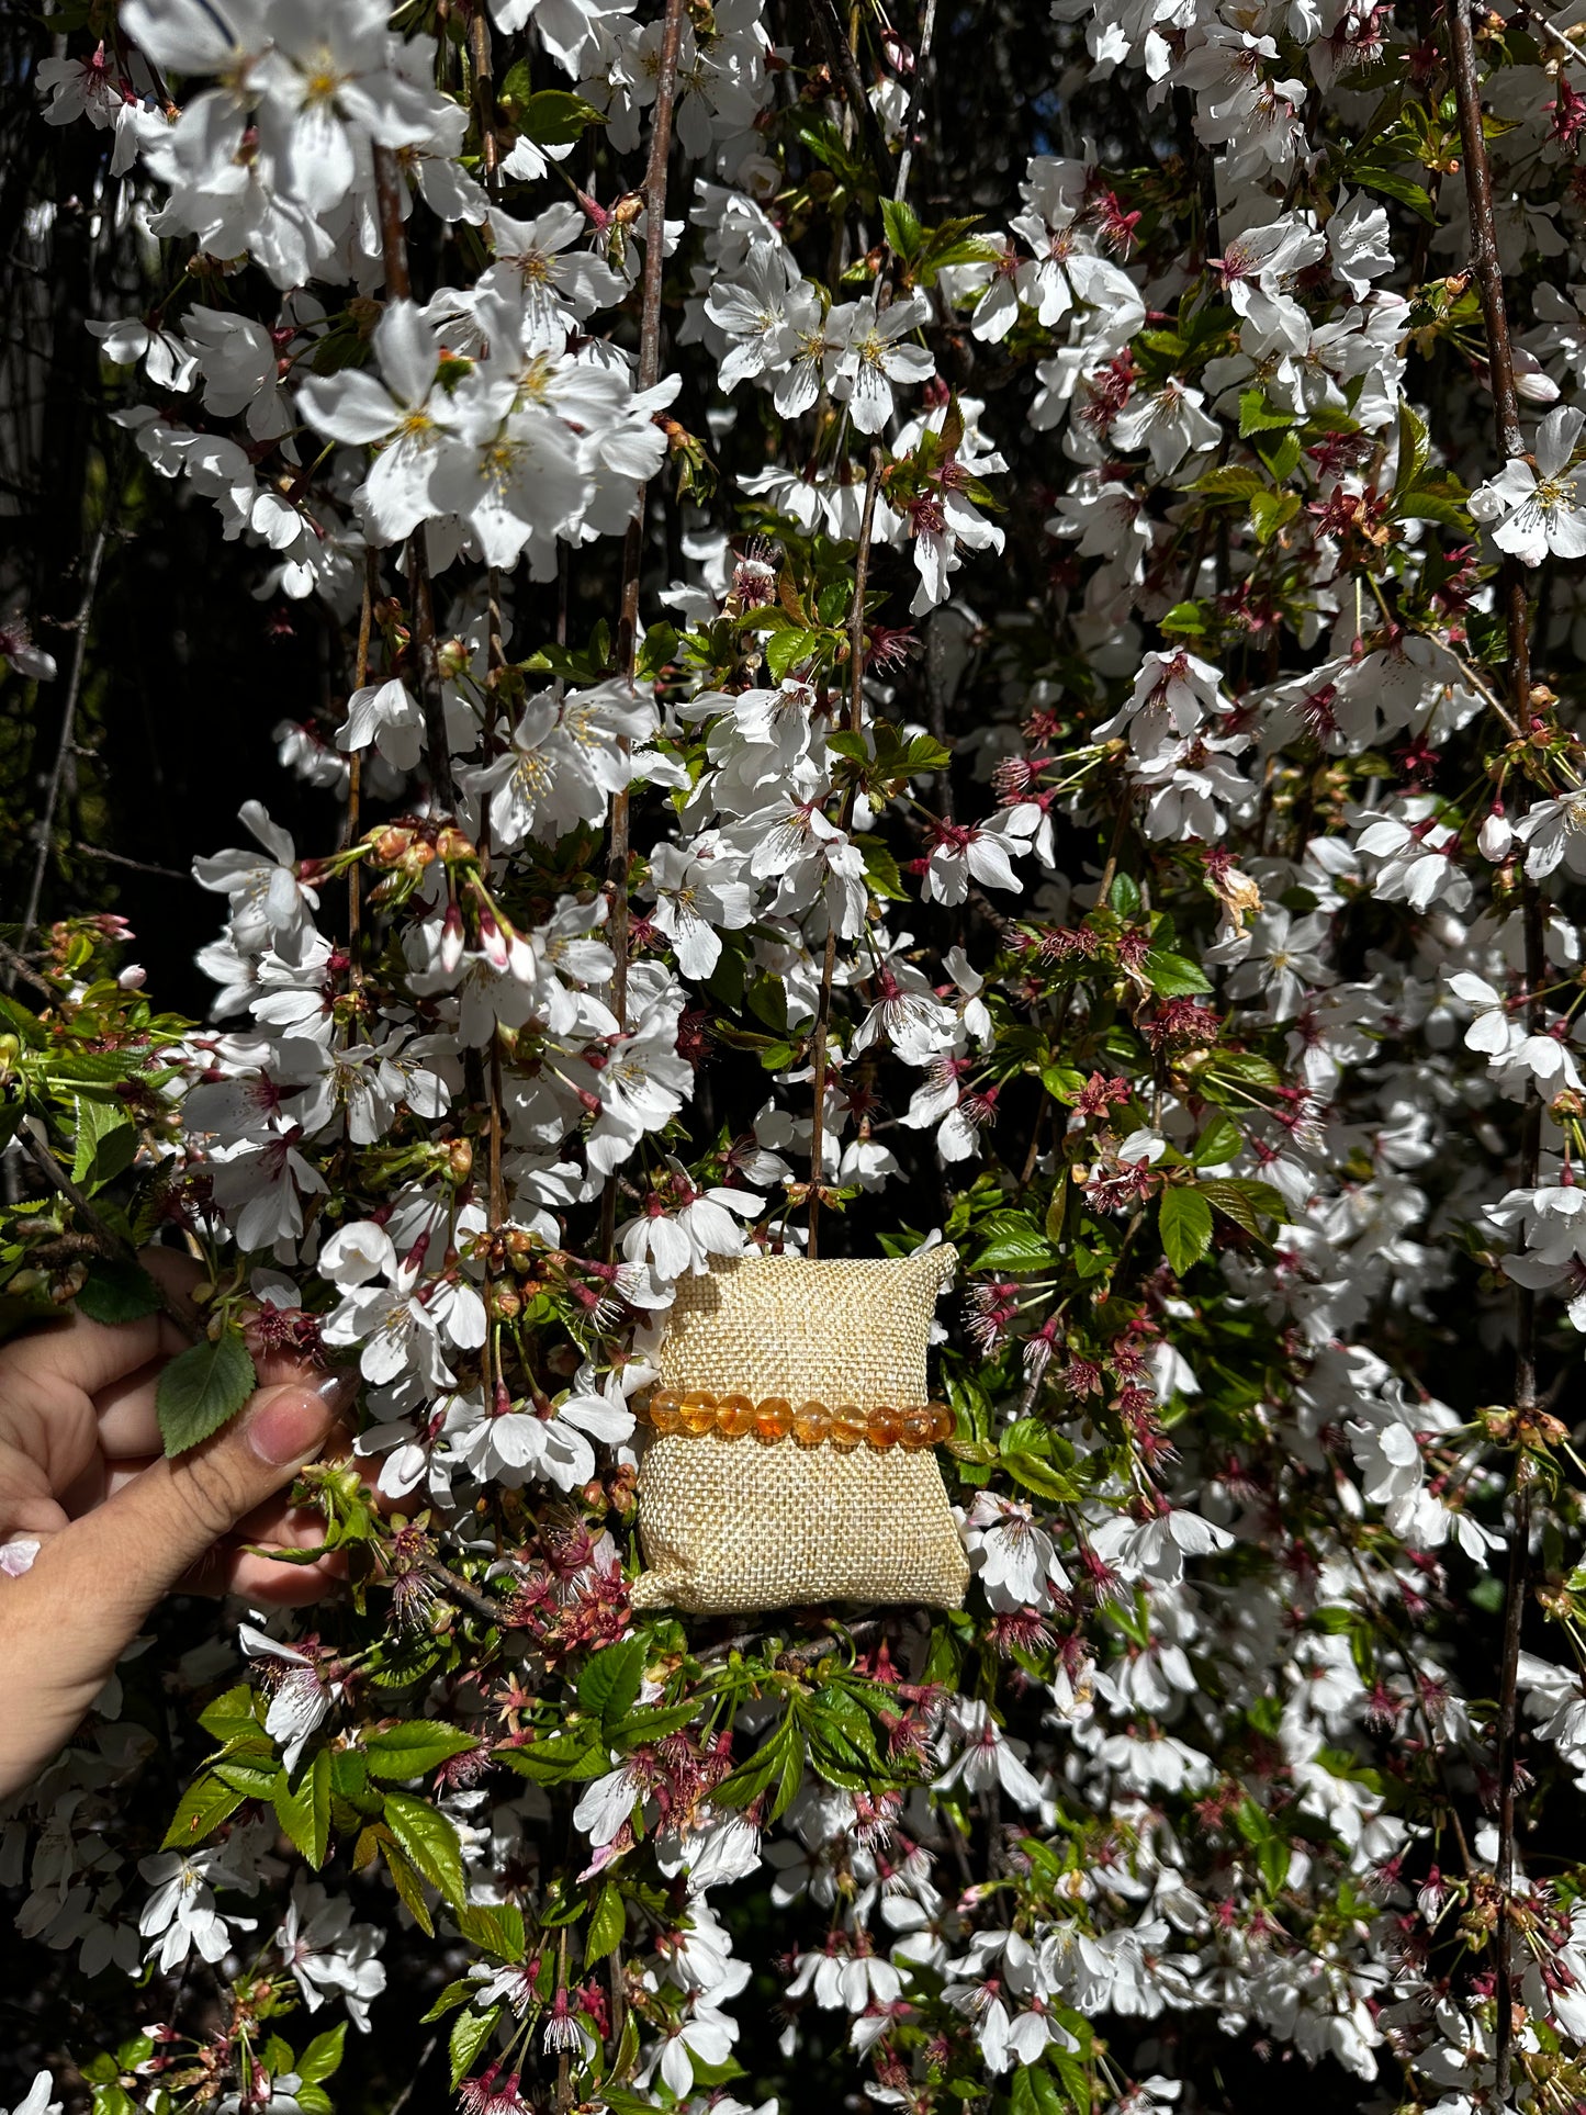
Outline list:
[[[677,1288],[662,1387],[863,1413],[926,1402],[937,1292],[956,1252],[863,1263],[751,1256]],[[958,1607],[969,1565],[935,1449],[651,1434],[634,1607],[698,1616],[814,1601]]]

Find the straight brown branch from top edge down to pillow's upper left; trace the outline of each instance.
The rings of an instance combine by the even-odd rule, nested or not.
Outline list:
[[[660,379],[660,296],[666,264],[666,163],[672,152],[672,104],[677,102],[677,53],[683,42],[685,0],[666,0],[660,59],[656,70],[656,123],[649,135],[645,165],[645,281],[639,313],[639,389],[653,389]],[[628,685],[634,681],[639,654],[639,573],[645,560],[645,505],[649,484],[639,486],[639,503],[622,541],[622,601],[617,607],[617,666]],[[624,751],[628,742],[620,744]],[[611,1011],[622,1030],[628,1026],[628,857],[630,857],[628,789],[611,797],[611,835],[607,840],[605,886],[611,916]],[[617,1178],[607,1176],[601,1193],[601,1258],[611,1261],[617,1233]]]

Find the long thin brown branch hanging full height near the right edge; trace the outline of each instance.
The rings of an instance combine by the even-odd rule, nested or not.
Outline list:
[[[1449,59],[1459,104],[1459,133],[1465,161],[1465,197],[1470,203],[1470,266],[1480,292],[1482,321],[1487,326],[1487,372],[1493,385],[1493,408],[1497,425],[1497,446],[1506,461],[1525,453],[1520,434],[1520,398],[1514,387],[1514,349],[1510,343],[1508,307],[1504,298],[1504,266],[1497,252],[1497,222],[1493,216],[1493,171],[1487,161],[1487,135],[1482,131],[1480,85],[1476,80],[1476,40],[1470,30],[1468,0],[1451,0],[1449,17]],[[1520,563],[1506,556],[1499,575],[1499,596],[1508,630],[1510,654],[1510,711],[1518,728],[1531,725],[1531,605],[1525,588]],[[1527,1003],[1527,1024],[1531,1034],[1542,1034],[1548,1024],[1546,1000],[1539,996],[1546,983],[1546,937],[1542,928],[1542,901],[1537,884],[1527,876],[1523,888],[1523,933],[1525,933],[1525,983],[1531,994]],[[1520,1134],[1520,1189],[1535,1189],[1542,1159],[1542,1100],[1533,1083],[1525,1108]],[[1537,1400],[1537,1311],[1535,1292],[1516,1286],[1514,1294],[1514,1409],[1525,1413]],[[1527,1597],[1529,1542],[1531,1542],[1531,1478],[1525,1455],[1525,1432],[1516,1432],[1516,1491],[1510,1542],[1510,1567],[1504,1588],[1504,1656],[1497,1684],[1497,1929],[1493,1948],[1497,1956],[1497,2020],[1493,2030],[1493,2073],[1497,2104],[1510,2104],[1514,2071],[1514,1929],[1510,1914],[1510,1891],[1514,1887],[1514,1827],[1516,1827],[1516,1724],[1518,1724],[1518,1675],[1520,1675],[1520,1622]]]

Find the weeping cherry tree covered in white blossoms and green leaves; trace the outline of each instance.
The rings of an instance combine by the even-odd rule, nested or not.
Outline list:
[[[326,679],[186,1017],[51,893],[110,529],[8,603],[4,1316],[357,1411],[8,1804],[23,2107],[1586,2104],[1580,23],[49,23],[106,489]],[[966,1605],[634,1610],[679,1282],[943,1239]]]

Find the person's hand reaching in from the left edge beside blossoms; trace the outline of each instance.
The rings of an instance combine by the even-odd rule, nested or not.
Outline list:
[[[199,1277],[171,1250],[144,1263],[178,1294]],[[260,1550],[319,1540],[290,1485],[332,1440],[347,1383],[269,1356],[243,1411],[167,1461],[154,1385],[186,1341],[167,1316],[114,1328],[72,1316],[0,1349],[0,1542],[40,1544],[27,1571],[0,1576],[0,1796],[72,1736],[163,1595],[281,1607],[334,1576],[334,1559]]]

